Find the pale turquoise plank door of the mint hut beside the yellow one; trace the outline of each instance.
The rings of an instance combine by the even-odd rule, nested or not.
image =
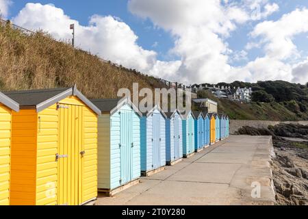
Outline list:
[[[131,110],[120,111],[120,185],[133,179],[133,125]]]

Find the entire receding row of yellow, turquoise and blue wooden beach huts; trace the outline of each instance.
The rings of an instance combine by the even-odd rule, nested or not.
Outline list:
[[[0,205],[83,205],[228,136],[222,114],[142,114],[76,87],[0,92]]]

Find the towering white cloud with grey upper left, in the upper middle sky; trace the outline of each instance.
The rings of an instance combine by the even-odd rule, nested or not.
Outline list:
[[[151,19],[176,39],[170,54],[181,57],[181,65],[170,79],[198,83],[231,76],[229,48],[223,38],[249,19],[239,5],[222,5],[216,0],[131,0],[128,6],[133,14]]]

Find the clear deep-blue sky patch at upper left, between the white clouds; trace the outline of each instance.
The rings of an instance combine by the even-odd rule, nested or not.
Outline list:
[[[52,3],[57,8],[62,8],[66,14],[73,18],[81,25],[88,25],[89,18],[93,14],[102,16],[116,16],[127,23],[129,27],[138,36],[138,44],[144,49],[153,49],[159,55],[161,60],[169,60],[170,57],[166,55],[168,50],[173,47],[173,40],[168,32],[163,29],[155,28],[153,23],[149,20],[142,20],[129,12],[127,9],[127,0],[88,0],[88,1],[73,1],[73,0],[55,0],[55,1],[13,1],[10,9],[10,17],[16,16],[18,12],[25,7],[26,3]],[[157,42],[157,43],[155,43]]]

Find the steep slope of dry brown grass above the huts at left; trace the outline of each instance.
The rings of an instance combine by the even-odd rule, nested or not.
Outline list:
[[[90,98],[116,97],[118,89],[164,86],[154,77],[101,62],[44,33],[27,36],[0,25],[0,90],[73,86]]]

